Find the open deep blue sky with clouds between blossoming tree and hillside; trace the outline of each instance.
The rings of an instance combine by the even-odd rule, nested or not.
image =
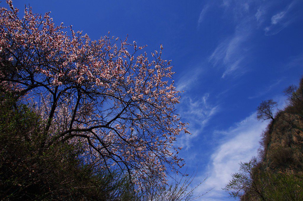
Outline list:
[[[147,51],[164,47],[172,59],[182,94],[178,111],[190,123],[180,136],[188,172],[201,200],[228,200],[221,190],[240,161],[256,155],[266,122],[255,109],[273,98],[285,104],[282,90],[303,75],[303,2],[300,0],[80,1],[15,0],[22,10],[51,11],[56,23],[73,25],[92,39],[111,35]],[[2,2],[2,5],[5,3]]]

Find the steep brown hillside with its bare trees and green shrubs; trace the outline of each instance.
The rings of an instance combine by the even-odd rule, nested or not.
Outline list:
[[[261,134],[259,153],[240,163],[239,172],[224,190],[241,200],[303,200],[303,78],[299,87],[284,90],[284,110],[273,114],[277,103],[262,101],[259,120],[270,119]]]

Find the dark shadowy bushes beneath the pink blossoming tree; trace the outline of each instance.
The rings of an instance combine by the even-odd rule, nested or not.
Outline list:
[[[86,165],[80,145],[42,149],[39,116],[8,94],[0,101],[0,199],[138,199],[127,177]]]

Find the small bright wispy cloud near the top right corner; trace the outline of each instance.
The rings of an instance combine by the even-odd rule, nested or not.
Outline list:
[[[291,24],[295,15],[291,12],[297,1],[291,2],[286,8],[271,17],[271,25],[265,27],[265,35],[271,36],[280,32],[282,29]]]

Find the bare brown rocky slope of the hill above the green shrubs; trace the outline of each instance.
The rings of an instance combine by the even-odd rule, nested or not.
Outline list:
[[[288,106],[279,111],[263,133],[259,156],[262,167],[273,172],[303,174],[303,80],[288,87]]]

